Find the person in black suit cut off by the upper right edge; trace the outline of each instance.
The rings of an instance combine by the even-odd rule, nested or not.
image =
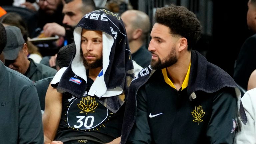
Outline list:
[[[247,25],[256,33],[256,0],[248,1]],[[256,34],[245,40],[235,63],[234,80],[244,89],[248,89],[251,73],[256,69]]]

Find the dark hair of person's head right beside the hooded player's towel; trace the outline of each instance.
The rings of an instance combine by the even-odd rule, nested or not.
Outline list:
[[[71,43],[60,48],[56,57],[56,66],[59,66],[60,68],[68,67],[72,60],[72,56],[75,50],[75,43]]]

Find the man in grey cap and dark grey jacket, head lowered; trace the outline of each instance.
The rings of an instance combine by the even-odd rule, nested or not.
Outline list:
[[[7,36],[7,44],[4,48],[5,66],[20,72],[34,82],[56,74],[55,69],[27,58],[28,46],[18,27],[7,26],[5,29]]]

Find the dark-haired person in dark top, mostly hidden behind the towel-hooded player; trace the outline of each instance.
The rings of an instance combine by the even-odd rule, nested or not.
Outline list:
[[[63,67],[68,67],[69,63],[71,62],[75,49],[76,49],[75,43],[71,43],[69,45],[66,45],[60,48],[56,58],[57,71],[59,71]],[[35,82],[37,93],[39,96],[41,110],[44,110],[46,91],[52,79],[53,79],[53,76],[44,78]]]

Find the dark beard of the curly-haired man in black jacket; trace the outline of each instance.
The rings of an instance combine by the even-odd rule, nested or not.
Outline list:
[[[177,63],[177,61],[178,61],[178,59],[177,59],[177,55],[176,55],[176,52],[175,52],[175,48],[172,48],[171,52],[169,53],[169,55],[167,56],[165,61],[162,61],[158,57],[158,60],[151,59],[150,65],[155,70],[156,69],[163,69],[163,68],[174,65],[175,63]]]

